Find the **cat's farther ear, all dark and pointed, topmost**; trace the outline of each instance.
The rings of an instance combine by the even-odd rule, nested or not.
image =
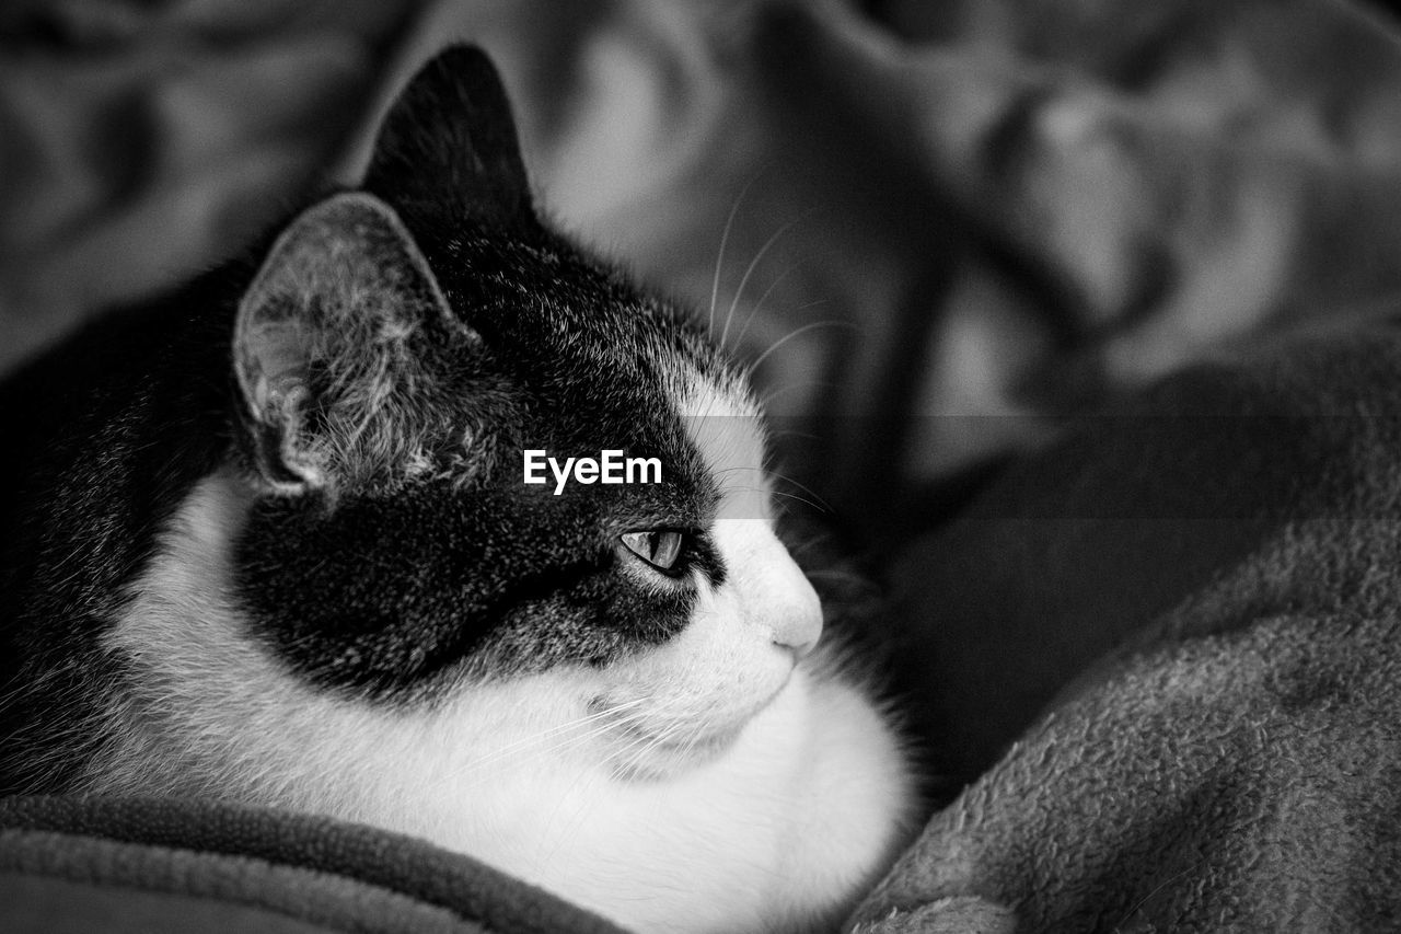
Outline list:
[[[415,219],[534,223],[506,88],[481,49],[451,46],[413,76],[380,126],[363,188]]]

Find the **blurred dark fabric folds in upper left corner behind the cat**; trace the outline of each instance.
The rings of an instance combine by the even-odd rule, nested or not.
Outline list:
[[[324,180],[415,10],[0,7],[0,367],[227,257]]]

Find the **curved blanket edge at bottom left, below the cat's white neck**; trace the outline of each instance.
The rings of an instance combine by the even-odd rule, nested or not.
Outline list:
[[[95,906],[113,905],[112,889],[142,893],[133,910],[142,906],[161,930],[199,917],[184,930],[259,930],[266,921],[287,931],[616,931],[409,837],[217,802],[0,801],[0,891],[34,899],[0,900],[6,931],[63,920],[73,930],[105,930],[81,923]]]

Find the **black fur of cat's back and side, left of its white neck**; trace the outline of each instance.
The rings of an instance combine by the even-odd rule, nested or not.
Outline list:
[[[27,750],[87,735],[116,676],[105,620],[217,461],[226,286],[210,275],[105,313],[0,379],[0,791],[63,787],[69,769],[31,773]]]

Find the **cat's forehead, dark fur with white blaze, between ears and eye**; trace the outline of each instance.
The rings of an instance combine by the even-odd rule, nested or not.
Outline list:
[[[744,373],[681,304],[546,230],[434,233],[425,229],[420,238],[451,313],[481,335],[462,345],[458,369],[499,380],[521,414],[488,418],[488,431],[495,421],[504,432],[502,453],[521,449],[520,463],[497,460],[500,478],[523,482],[527,450],[565,459],[619,449],[658,456],[665,495],[601,485],[577,495],[646,501],[663,519],[768,517],[758,407]],[[478,379],[461,386],[468,408]]]

